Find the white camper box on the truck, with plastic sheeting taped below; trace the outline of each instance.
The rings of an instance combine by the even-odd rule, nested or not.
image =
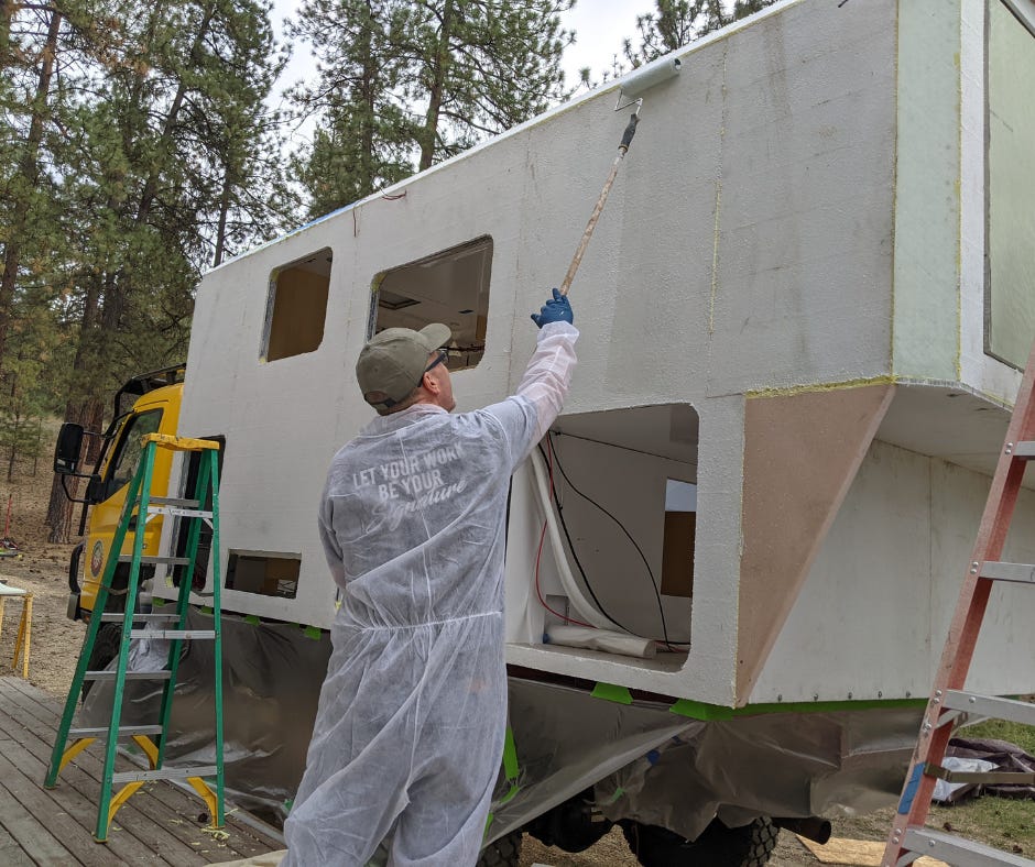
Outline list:
[[[612,819],[688,837],[717,812],[897,792],[1035,336],[1033,10],[785,0],[643,94],[571,287],[564,413],[513,479],[520,791],[493,834],[593,786],[625,792]],[[614,158],[621,90],[201,281],[179,427],[225,437],[227,652],[268,672],[250,689],[295,779],[326,635],[306,639],[310,704],[277,710],[301,689],[303,639],[284,636],[326,630],[339,602],[315,518],[373,415],[359,350],[443,321],[458,411],[512,393]],[[1035,561],[1035,541],[1003,559]],[[1031,593],[995,597],[974,689],[1035,691],[1033,618]],[[652,640],[576,647],[566,619]]]

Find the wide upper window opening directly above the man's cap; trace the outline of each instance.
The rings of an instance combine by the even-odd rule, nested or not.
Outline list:
[[[491,271],[492,239],[484,237],[381,272],[369,333],[444,322],[453,329],[449,369],[477,366],[486,351]]]

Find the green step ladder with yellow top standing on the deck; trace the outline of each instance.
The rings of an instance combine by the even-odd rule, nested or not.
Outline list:
[[[57,739],[54,742],[54,751],[47,768],[44,786],[53,789],[57,784],[57,777],[62,769],[86,747],[99,737],[106,738],[105,767],[100,784],[100,802],[97,809],[97,831],[94,838],[98,843],[108,839],[111,820],[116,812],[126,803],[127,799],[151,780],[185,780],[208,805],[213,817],[213,826],[224,826],[224,757],[222,757],[222,637],[220,628],[219,602],[219,443],[213,440],[188,439],[163,434],[149,434],[142,438],[143,451],[140,464],[129,484],[122,515],[108,552],[103,577],[94,604],[94,614],[90,616],[86,639],[79,654],[76,673],[65,700],[65,712],[62,714],[61,726],[57,729]],[[199,452],[197,483],[194,496],[190,500],[174,500],[165,496],[151,496],[151,480],[154,471],[154,458],[157,449],[170,449],[175,452]],[[211,507],[206,508],[206,501],[210,497]],[[140,516],[145,516],[143,520]],[[143,525],[155,515],[176,516],[188,522],[187,544],[183,557],[144,557],[144,534],[133,533],[133,553],[122,555],[122,546],[127,533],[132,528],[143,528]],[[213,560],[213,628],[188,629],[187,612],[190,600],[190,584],[194,568],[197,561],[198,541],[201,535],[201,523],[211,526],[211,549],[215,552]],[[123,612],[106,613],[108,599],[112,594],[111,581],[116,567],[120,562],[130,563],[129,580],[126,588],[126,610]],[[139,614],[135,613],[138,593],[140,590],[140,567],[148,563],[163,563],[172,568],[182,567],[179,593],[174,614]],[[121,591],[118,591],[121,592]],[[97,641],[101,623],[121,623],[122,638],[119,647],[118,666],[115,670],[89,671],[90,654]],[[160,628],[144,630],[133,629],[133,624],[148,624]],[[162,628],[168,626],[168,628]],[[168,660],[165,669],[154,672],[127,671],[130,641],[133,638],[164,638],[170,641]],[[216,756],[215,764],[203,767],[166,768],[165,745],[172,716],[173,696],[176,692],[176,672],[179,668],[184,641],[210,640],[214,641],[214,680],[216,699]],[[121,725],[122,695],[128,680],[165,681],[162,692],[160,720],[154,725]],[[76,713],[83,684],[86,681],[113,682],[115,696],[112,699],[111,717],[107,727],[73,728],[72,722]],[[119,738],[132,738],[144,751],[150,762],[150,770],[132,770],[116,772],[115,759],[118,751]],[[214,780],[215,782],[209,782]],[[122,788],[112,795],[113,786]]]

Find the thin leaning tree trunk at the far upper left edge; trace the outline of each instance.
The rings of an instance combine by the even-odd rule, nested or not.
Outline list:
[[[4,0],[3,13],[8,17],[9,4]],[[3,273],[0,275],[0,370],[3,369],[3,351],[7,343],[8,328],[11,325],[11,305],[14,301],[14,284],[18,267],[21,264],[22,239],[32,194],[40,180],[40,143],[43,141],[43,123],[47,109],[47,95],[51,92],[51,77],[54,74],[54,57],[57,54],[57,35],[61,33],[62,13],[51,12],[46,41],[43,45],[42,66],[36,79],[36,94],[32,101],[32,116],[29,122],[29,138],[19,166],[21,183],[15,183],[15,196],[11,227],[3,250]]]

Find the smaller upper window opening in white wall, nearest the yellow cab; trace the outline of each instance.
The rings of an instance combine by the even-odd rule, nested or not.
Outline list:
[[[314,352],[324,340],[331,252],[325,248],[270,276],[263,361]]]

